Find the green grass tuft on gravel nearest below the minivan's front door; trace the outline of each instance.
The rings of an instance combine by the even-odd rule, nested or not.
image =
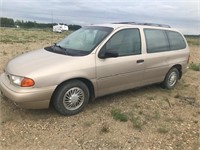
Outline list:
[[[113,119],[115,119],[115,120],[119,120],[121,122],[128,121],[128,116],[126,114],[122,113],[121,110],[119,110],[119,109],[113,109],[111,111],[111,115],[112,115]]]

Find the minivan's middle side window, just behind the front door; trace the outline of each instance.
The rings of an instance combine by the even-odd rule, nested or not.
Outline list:
[[[164,30],[144,29],[147,52],[163,52],[170,50],[167,35]]]

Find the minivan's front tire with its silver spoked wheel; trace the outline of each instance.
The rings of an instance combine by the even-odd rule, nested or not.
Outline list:
[[[61,84],[53,95],[54,108],[62,115],[75,115],[81,112],[89,101],[88,87],[79,80]]]

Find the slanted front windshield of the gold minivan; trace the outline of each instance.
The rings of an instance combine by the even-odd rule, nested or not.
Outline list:
[[[83,56],[89,54],[110,32],[112,28],[88,26],[83,27],[69,36],[65,37],[54,47],[62,51],[63,54],[73,56]],[[56,52],[54,50],[54,52]]]

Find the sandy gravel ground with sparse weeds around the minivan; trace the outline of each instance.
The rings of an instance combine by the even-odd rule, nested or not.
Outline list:
[[[11,32],[23,35],[22,39],[2,38]],[[0,73],[9,59],[64,36],[37,31],[38,36],[47,36],[33,40],[36,31],[18,32],[0,31]],[[190,45],[190,51],[190,62],[199,63],[200,47]],[[53,108],[21,109],[1,96],[0,149],[200,150],[199,91],[200,72],[188,69],[173,90],[151,85],[105,96],[70,117]],[[114,120],[111,112],[116,109],[126,114],[128,121]]]

